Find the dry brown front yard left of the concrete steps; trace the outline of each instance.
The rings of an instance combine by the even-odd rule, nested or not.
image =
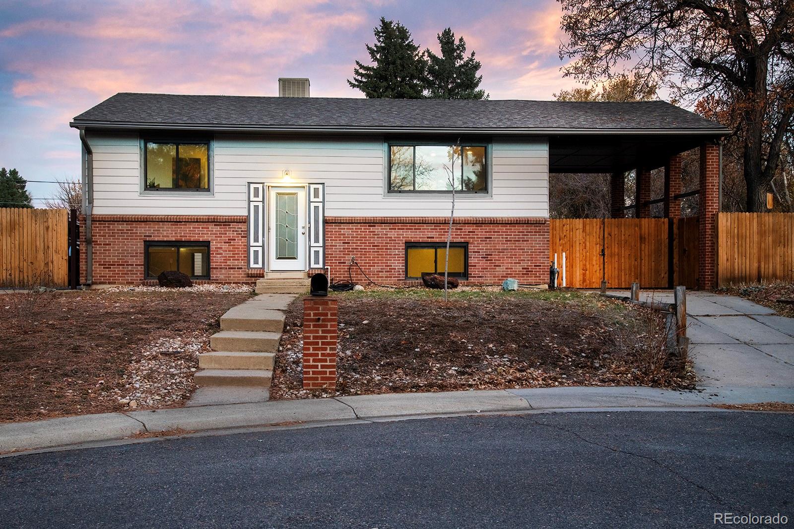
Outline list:
[[[198,351],[160,354],[156,344],[192,340],[202,347],[223,312],[248,297],[173,290],[0,295],[0,422],[129,409],[120,399],[147,378],[163,385],[154,389],[164,393],[160,401],[178,405],[193,389],[189,371]],[[155,352],[142,358],[150,347]]]

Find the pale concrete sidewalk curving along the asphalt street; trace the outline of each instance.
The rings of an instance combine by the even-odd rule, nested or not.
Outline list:
[[[721,402],[794,403],[794,391],[757,394],[719,393]],[[161,431],[213,431],[292,424],[353,424],[424,416],[492,412],[603,411],[604,409],[703,409],[707,393],[646,387],[564,387],[495,389],[445,393],[392,393],[298,401],[222,404],[126,413],[64,417],[0,425],[0,453],[125,439]],[[712,411],[714,408],[710,408]]]

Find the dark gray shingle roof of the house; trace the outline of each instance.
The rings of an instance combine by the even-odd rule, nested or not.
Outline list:
[[[121,93],[73,126],[378,132],[697,132],[726,128],[666,102],[442,101]]]

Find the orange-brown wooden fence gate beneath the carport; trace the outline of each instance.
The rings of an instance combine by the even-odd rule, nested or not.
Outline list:
[[[697,217],[550,222],[549,259],[557,254],[561,269],[565,252],[566,286],[599,288],[602,279],[609,288],[697,286]]]

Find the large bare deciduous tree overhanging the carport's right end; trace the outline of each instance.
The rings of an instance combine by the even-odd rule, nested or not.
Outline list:
[[[761,211],[794,119],[794,0],[559,0],[565,75],[630,69],[685,101],[733,110],[746,209]]]

